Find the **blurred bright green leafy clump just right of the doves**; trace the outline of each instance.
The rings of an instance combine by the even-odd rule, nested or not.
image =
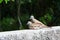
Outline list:
[[[45,25],[49,25],[53,20],[53,11],[51,9],[45,12],[45,15],[39,18]],[[52,25],[51,25],[52,26]]]

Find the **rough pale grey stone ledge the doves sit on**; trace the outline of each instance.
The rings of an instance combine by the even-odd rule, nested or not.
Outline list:
[[[0,32],[0,40],[60,40],[60,26],[39,30]]]

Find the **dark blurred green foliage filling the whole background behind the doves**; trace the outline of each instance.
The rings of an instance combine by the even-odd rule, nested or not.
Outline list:
[[[17,1],[20,1],[20,4]],[[18,5],[20,5],[22,27],[19,26],[17,18]],[[60,25],[60,1],[58,0],[0,0],[0,9],[2,31],[28,29],[26,23],[32,14],[45,25]]]

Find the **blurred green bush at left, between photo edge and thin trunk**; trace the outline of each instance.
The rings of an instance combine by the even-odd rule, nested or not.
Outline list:
[[[1,20],[2,31],[18,30],[18,27],[17,20],[13,18],[7,17]]]

